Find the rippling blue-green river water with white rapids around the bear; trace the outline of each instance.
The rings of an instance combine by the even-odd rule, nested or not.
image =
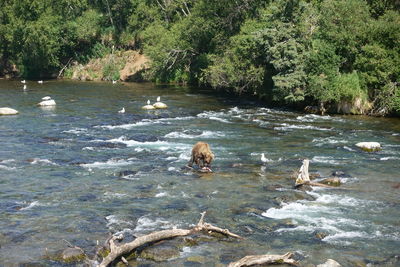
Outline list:
[[[55,108],[36,106],[46,95]],[[168,109],[141,109],[157,96]],[[0,106],[20,112],[0,117],[0,265],[59,266],[48,255],[64,240],[91,254],[110,232],[188,228],[202,211],[246,239],[209,238],[139,263],[220,266],[292,251],[303,264],[400,264],[399,119],[305,115],[133,83],[28,82],[24,92],[0,80]],[[213,173],[184,168],[197,141],[211,145]],[[362,152],[360,141],[383,149]],[[294,189],[304,158],[322,178],[341,171],[342,186]]]

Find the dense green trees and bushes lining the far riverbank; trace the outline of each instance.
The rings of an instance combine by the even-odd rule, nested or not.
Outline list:
[[[147,78],[400,112],[399,0],[0,0],[0,75],[136,49]],[[118,72],[110,65],[110,73]]]

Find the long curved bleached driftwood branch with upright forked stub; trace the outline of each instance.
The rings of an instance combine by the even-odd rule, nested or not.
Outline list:
[[[145,244],[154,243],[160,240],[169,239],[178,236],[186,236],[200,231],[206,232],[218,232],[224,234],[226,236],[235,237],[235,238],[242,238],[241,236],[231,233],[228,229],[222,229],[217,226],[211,225],[209,223],[204,222],[205,212],[201,214],[201,218],[196,226],[192,229],[171,229],[171,230],[163,230],[150,233],[148,235],[144,235],[141,237],[136,238],[132,242],[125,243],[122,245],[117,245],[115,240],[122,239],[121,236],[113,236],[109,240],[110,245],[110,253],[107,257],[103,258],[102,262],[98,265],[98,267],[106,267],[110,263],[112,263],[117,258],[130,253],[131,251],[135,250],[136,248],[143,246]]]

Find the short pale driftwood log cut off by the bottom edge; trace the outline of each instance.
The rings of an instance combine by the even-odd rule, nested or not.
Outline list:
[[[250,255],[241,258],[238,261],[231,262],[228,267],[241,267],[241,266],[252,266],[257,264],[275,264],[275,263],[287,263],[291,265],[297,265],[298,262],[292,259],[293,253],[286,253],[284,255]]]

